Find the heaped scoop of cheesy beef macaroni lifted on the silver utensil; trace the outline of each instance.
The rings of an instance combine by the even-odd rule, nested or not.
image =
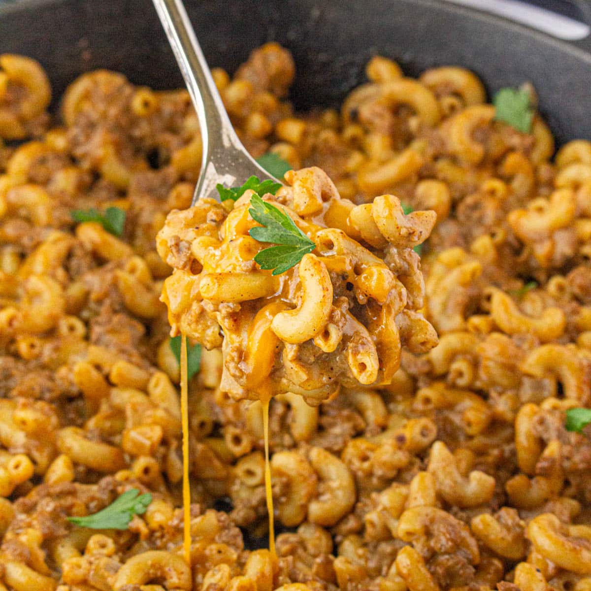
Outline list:
[[[263,200],[316,246],[278,275],[254,260],[269,243],[249,234],[259,225],[253,191],[168,215],[157,247],[174,268],[162,295],[173,334],[222,347],[221,387],[236,400],[271,388],[319,404],[340,385],[388,384],[402,346],[421,353],[437,344],[420,313],[424,282],[413,251],[435,213],[405,215],[392,195],[356,206],[316,167],[289,171],[285,181]]]

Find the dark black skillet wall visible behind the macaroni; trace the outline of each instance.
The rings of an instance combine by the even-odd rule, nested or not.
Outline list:
[[[577,0],[587,7],[585,0]],[[460,64],[494,92],[530,81],[558,143],[591,139],[591,40],[568,43],[441,0],[185,0],[210,66],[230,72],[268,40],[293,52],[291,99],[337,106],[373,54],[415,75]],[[0,51],[39,60],[54,96],[99,67],[132,82],[182,85],[150,0],[25,0],[0,7]]]

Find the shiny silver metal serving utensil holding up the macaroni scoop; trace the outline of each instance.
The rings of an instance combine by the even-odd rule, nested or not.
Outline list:
[[[237,186],[252,175],[261,180],[277,180],[256,163],[238,139],[182,0],[152,2],[183,73],[199,118],[203,160],[191,205],[196,204],[202,197],[213,196],[217,183]]]

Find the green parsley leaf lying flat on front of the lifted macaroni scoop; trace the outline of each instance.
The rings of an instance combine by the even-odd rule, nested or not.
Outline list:
[[[293,219],[258,195],[251,197],[248,213],[263,227],[256,226],[249,234],[259,242],[271,242],[270,246],[255,256],[261,269],[273,269],[272,275],[281,275],[301,261],[302,257],[316,248],[316,244],[296,226]]]

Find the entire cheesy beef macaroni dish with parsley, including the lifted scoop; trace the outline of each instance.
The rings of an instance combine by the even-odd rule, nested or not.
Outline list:
[[[294,73],[213,70],[281,183],[191,207],[185,90],[0,56],[0,591],[591,589],[591,142]]]

